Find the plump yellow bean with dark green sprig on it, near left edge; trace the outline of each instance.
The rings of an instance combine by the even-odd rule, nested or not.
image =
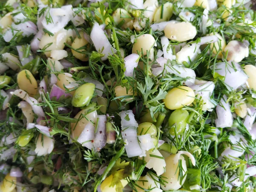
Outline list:
[[[38,84],[35,77],[29,70],[22,70],[17,75],[17,83],[20,89],[29,93],[29,96],[35,96],[38,90]]]

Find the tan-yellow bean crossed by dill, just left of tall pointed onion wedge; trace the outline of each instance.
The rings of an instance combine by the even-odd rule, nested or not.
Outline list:
[[[77,51],[79,52],[77,52],[74,49],[71,49],[71,52],[75,58],[78,58],[81,61],[88,61],[89,60],[88,55],[80,53],[80,52],[87,51],[86,49],[80,49],[80,48],[84,46],[88,48],[89,47],[88,41],[84,38],[84,32],[82,31],[79,32],[79,35],[81,36],[81,38],[76,37],[73,44],[71,45],[74,49],[77,49]]]

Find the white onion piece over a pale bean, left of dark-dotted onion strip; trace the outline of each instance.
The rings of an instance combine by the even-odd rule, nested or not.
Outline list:
[[[80,143],[82,146],[87,147],[88,149],[94,148],[94,131],[94,125],[92,123],[87,123],[87,125],[84,127],[84,130],[78,137],[77,142]]]

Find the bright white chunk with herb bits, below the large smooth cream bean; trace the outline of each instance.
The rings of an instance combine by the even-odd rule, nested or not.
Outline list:
[[[195,44],[185,45],[179,52],[176,54],[176,61],[182,64],[186,61],[188,64],[190,61],[195,61],[197,56],[201,53],[199,46]]]

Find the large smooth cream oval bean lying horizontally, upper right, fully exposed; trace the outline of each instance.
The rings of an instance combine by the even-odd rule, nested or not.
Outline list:
[[[164,28],[164,34],[173,41],[188,41],[197,34],[195,26],[189,22],[168,23]]]

